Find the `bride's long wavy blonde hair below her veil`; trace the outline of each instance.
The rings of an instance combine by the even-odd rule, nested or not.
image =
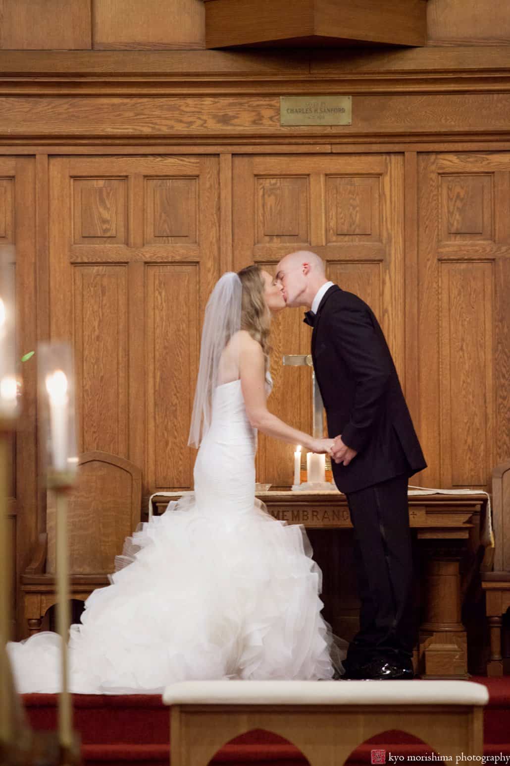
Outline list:
[[[269,330],[271,313],[265,302],[265,284],[259,266],[247,266],[238,271],[242,284],[241,329],[246,330],[260,343],[265,356],[266,370],[269,368]]]

